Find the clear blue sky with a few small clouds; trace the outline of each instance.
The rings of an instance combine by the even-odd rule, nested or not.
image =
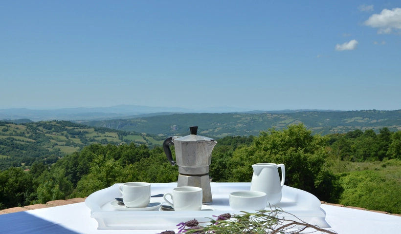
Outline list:
[[[400,1],[0,1],[0,109],[401,109]]]

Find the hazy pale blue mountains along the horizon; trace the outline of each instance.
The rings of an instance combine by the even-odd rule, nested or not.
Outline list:
[[[305,111],[332,112],[331,110],[281,110],[281,111],[259,111],[247,110],[234,107],[212,107],[203,110],[192,110],[179,107],[150,107],[139,105],[117,105],[98,108],[64,108],[54,110],[32,110],[26,108],[0,109],[0,119],[30,119],[32,121],[42,120],[108,120],[129,119],[137,117],[151,117],[160,115],[183,114],[183,113],[297,113]]]

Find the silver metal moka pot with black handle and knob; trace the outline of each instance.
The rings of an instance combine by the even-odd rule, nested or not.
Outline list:
[[[212,151],[217,141],[196,135],[198,126],[191,126],[189,129],[191,135],[165,139],[163,142],[164,153],[171,165],[176,165],[170,150],[170,145],[174,145],[179,173],[178,187],[200,187],[203,190],[202,202],[211,203],[213,199],[210,189],[209,166],[212,161]]]

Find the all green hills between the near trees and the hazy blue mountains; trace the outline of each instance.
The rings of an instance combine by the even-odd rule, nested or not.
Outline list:
[[[81,124],[82,123],[82,124]],[[79,151],[90,144],[161,145],[168,136],[185,136],[189,126],[199,126],[198,134],[213,138],[226,136],[258,136],[269,128],[283,129],[303,123],[321,135],[347,133],[356,129],[383,127],[401,130],[401,110],[237,113],[237,114],[174,114],[132,119],[80,121],[0,122],[0,169],[31,165],[37,158],[53,163],[58,158]],[[86,124],[86,125],[83,125]],[[89,125],[89,126],[88,126]]]

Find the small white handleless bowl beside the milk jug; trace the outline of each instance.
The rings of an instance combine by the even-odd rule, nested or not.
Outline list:
[[[236,211],[265,210],[267,194],[259,191],[237,191],[230,193],[230,207]]]

